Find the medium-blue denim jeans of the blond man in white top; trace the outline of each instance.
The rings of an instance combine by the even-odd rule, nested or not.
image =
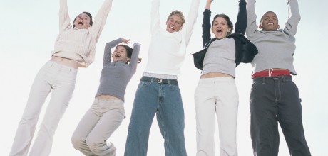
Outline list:
[[[155,79],[155,78],[154,78]],[[125,144],[125,156],[147,155],[153,118],[165,139],[165,155],[185,156],[185,115],[178,84],[140,81]]]

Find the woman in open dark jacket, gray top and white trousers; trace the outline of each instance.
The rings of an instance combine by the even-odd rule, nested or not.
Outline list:
[[[197,155],[215,155],[215,113],[219,126],[220,155],[237,155],[236,130],[238,92],[235,85],[235,67],[240,62],[251,62],[257,48],[243,34],[247,26],[246,2],[240,0],[235,33],[230,18],[218,14],[210,23],[207,0],[203,17],[204,49],[196,52],[195,66],[202,70],[195,90],[197,124]],[[210,38],[210,33],[215,38]]]

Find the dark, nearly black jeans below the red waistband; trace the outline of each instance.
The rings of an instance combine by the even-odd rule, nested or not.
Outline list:
[[[290,155],[310,156],[304,136],[299,91],[292,77],[259,77],[253,81],[250,132],[254,155],[278,155],[279,122]]]

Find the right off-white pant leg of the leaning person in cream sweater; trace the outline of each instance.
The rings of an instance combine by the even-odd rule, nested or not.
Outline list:
[[[34,145],[31,147],[29,155],[46,156],[51,152],[53,134],[56,131],[58,123],[66,111],[66,108],[71,100],[77,70],[71,67],[58,65],[53,63],[52,67],[56,69],[51,77],[53,77],[51,99],[46,109],[43,121],[38,132]]]

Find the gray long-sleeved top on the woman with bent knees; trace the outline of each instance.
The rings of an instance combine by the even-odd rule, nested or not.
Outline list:
[[[111,95],[124,101],[126,86],[137,70],[140,46],[136,44],[133,47],[129,64],[125,64],[125,62],[112,62],[111,48],[114,48],[121,42],[122,39],[119,38],[106,43],[105,52],[103,54],[103,69],[101,71],[101,79],[96,96]]]

